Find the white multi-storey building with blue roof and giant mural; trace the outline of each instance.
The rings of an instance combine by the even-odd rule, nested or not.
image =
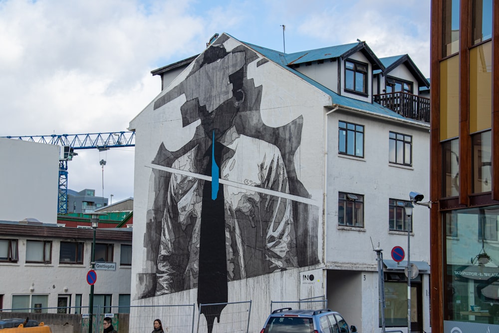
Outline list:
[[[132,305],[252,300],[257,332],[272,301],[325,296],[378,332],[379,243],[387,327],[407,331],[404,263],[389,258],[407,247],[409,192],[429,191],[429,109],[417,96],[429,83],[402,58],[385,66],[365,42],[285,54],[224,33],[153,71],[163,90],[130,122]],[[430,332],[424,207],[410,238],[412,331]],[[211,310],[200,326],[223,332],[230,311]]]

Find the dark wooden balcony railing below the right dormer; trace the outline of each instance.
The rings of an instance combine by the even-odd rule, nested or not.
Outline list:
[[[401,116],[430,122],[430,99],[407,92],[374,95],[374,101]]]

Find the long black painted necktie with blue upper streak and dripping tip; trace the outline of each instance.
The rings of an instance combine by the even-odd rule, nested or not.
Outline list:
[[[198,274],[198,304],[213,304],[200,309],[206,318],[208,333],[212,332],[215,319],[220,322],[226,306],[217,303],[228,302],[225,200],[224,188],[219,185],[224,148],[215,142],[213,133],[210,161],[205,170],[205,175],[211,175],[212,181],[211,186],[205,181],[203,187]]]

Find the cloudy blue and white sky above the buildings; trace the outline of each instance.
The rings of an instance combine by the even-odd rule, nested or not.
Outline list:
[[[286,53],[358,38],[430,77],[430,0],[0,0],[0,136],[126,131],[161,92],[151,71],[222,32]],[[77,153],[69,189],[134,196],[133,147]]]

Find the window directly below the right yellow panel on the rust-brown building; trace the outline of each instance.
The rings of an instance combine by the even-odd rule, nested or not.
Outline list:
[[[492,191],[492,132],[472,136],[473,193]]]

